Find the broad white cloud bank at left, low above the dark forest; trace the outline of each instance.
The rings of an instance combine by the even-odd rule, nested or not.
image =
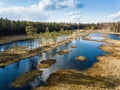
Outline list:
[[[31,5],[28,7],[10,6],[0,7],[0,17],[9,18],[13,20],[33,20],[45,21],[48,16],[38,8],[38,5]]]

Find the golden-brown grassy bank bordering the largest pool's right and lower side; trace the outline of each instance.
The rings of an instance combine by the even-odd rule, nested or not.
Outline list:
[[[99,48],[110,54],[98,56],[93,67],[84,71],[58,70],[48,78],[48,86],[33,90],[120,90],[120,41],[106,37],[104,42]]]

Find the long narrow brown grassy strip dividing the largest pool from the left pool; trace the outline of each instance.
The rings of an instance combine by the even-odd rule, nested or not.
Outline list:
[[[41,51],[41,47],[39,47],[39,48],[36,48],[36,49],[32,50],[31,52],[24,53],[24,54],[20,54],[20,55],[18,54],[20,58],[17,57],[17,58],[15,58],[15,59],[7,60],[8,57],[7,57],[7,56],[3,56],[3,57],[6,58],[6,59],[4,59],[5,62],[0,63],[0,67],[5,67],[5,66],[7,66],[7,65],[9,65],[9,64],[12,64],[12,63],[14,63],[14,62],[18,62],[18,61],[21,61],[21,60],[23,60],[23,59],[30,58],[30,57],[39,55],[39,54],[41,54],[41,53],[43,53],[43,52],[47,52],[47,51],[49,51],[49,50],[55,49],[55,48],[57,48],[58,46],[61,46],[61,45],[65,44],[65,43],[69,43],[69,42],[71,42],[72,40],[74,40],[74,39],[76,39],[76,38],[79,38],[79,37],[82,37],[82,36],[84,36],[84,35],[87,35],[88,33],[89,33],[89,32],[86,32],[86,33],[83,33],[82,35],[80,35],[80,34],[79,34],[79,35],[76,35],[74,38],[64,39],[64,40],[62,40],[62,41],[60,41],[60,42],[57,42],[57,43],[48,45],[47,47],[46,47],[46,46],[43,46],[44,49],[43,49],[42,51]],[[2,52],[2,53],[3,53],[3,52]],[[4,54],[5,54],[5,53],[4,53]],[[6,54],[7,54],[7,53],[6,53]],[[0,58],[2,58],[2,57],[0,57]],[[10,58],[9,58],[9,59],[10,59]],[[1,59],[1,60],[3,60],[3,59]]]

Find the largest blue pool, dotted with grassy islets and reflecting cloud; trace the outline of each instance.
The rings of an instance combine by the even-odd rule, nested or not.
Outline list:
[[[0,68],[0,90],[29,90],[33,87],[46,83],[49,75],[59,69],[86,70],[92,67],[95,62],[97,62],[96,58],[99,55],[107,54],[98,48],[103,43],[104,42],[86,41],[80,38],[59,46],[47,53],[42,53],[41,55],[27,58],[4,68]],[[70,48],[71,45],[74,45],[77,48]],[[72,52],[66,55],[56,54],[58,51],[63,49],[69,49]],[[87,60],[75,60],[76,56],[81,55],[87,57]],[[10,86],[18,76],[32,69],[36,69],[36,65],[45,59],[56,59],[57,62],[50,68],[43,69],[43,74],[36,77],[33,81],[30,81],[25,87],[14,88]]]

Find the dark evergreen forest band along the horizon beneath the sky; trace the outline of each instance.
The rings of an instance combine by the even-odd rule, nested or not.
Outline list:
[[[101,29],[102,27],[109,26],[109,24],[77,24],[77,23],[55,23],[55,22],[32,22],[32,21],[14,21],[9,19],[0,18],[0,36],[8,35],[25,35],[26,26],[30,24],[37,28],[37,33],[45,32],[46,27],[49,27],[49,31],[59,31],[61,28],[64,30],[74,30],[74,29],[90,29],[94,26],[95,29]],[[110,23],[111,25],[112,23]],[[120,23],[118,23],[120,25]],[[115,26],[113,24],[113,26]],[[113,27],[111,27],[113,28]]]

